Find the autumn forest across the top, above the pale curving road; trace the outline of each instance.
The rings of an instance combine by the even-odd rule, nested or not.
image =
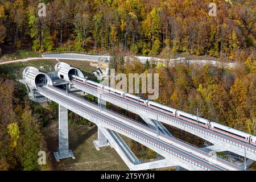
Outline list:
[[[46,17],[38,4],[46,4]],[[14,0],[0,1],[2,53],[121,50],[132,55],[176,53],[235,60],[255,48],[255,1]]]

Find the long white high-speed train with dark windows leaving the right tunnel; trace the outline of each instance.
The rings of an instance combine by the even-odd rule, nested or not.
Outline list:
[[[197,125],[207,127],[210,130],[218,131],[219,133],[226,134],[237,139],[241,139],[247,143],[251,143],[256,146],[256,137],[254,135],[247,134],[243,131],[233,129],[228,126],[220,125],[219,123],[212,122],[207,119],[197,117],[196,115],[185,113],[184,111],[180,111],[153,101],[143,100],[143,98],[141,97],[134,96],[133,94],[126,93],[121,90],[111,88],[109,86],[104,86],[94,81],[86,80],[85,78],[80,78],[76,76],[73,76],[73,78],[76,78],[76,81],[85,82],[85,84],[93,86],[94,88],[100,88],[119,97],[126,98],[127,100],[138,102],[139,104],[151,107],[155,110],[162,111],[164,113],[173,115],[177,118],[184,119],[192,123],[196,123]]]

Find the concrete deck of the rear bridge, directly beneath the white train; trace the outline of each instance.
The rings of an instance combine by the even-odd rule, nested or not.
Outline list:
[[[101,96],[102,100],[122,107],[123,109],[129,110],[135,114],[147,115],[148,118],[154,119],[155,121],[158,120],[166,123],[167,125],[175,126],[181,130],[192,133],[197,137],[208,140],[213,143],[214,146],[223,149],[223,151],[231,151],[242,156],[246,151],[247,158],[256,160],[256,147],[249,143],[245,143],[239,139],[222,133],[217,133],[216,131],[209,130],[206,127],[196,125],[195,123],[182,120],[172,116],[171,114],[152,109],[151,107],[144,106],[138,102],[127,100],[126,98],[117,96],[114,93],[104,92],[104,90],[100,90],[100,88],[94,88],[93,86],[89,86],[76,80],[72,80],[72,85],[76,89],[92,94],[93,96]]]

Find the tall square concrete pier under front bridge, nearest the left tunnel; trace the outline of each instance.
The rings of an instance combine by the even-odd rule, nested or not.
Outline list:
[[[75,159],[68,148],[68,109],[59,105],[59,150],[54,152],[57,161],[65,158]]]

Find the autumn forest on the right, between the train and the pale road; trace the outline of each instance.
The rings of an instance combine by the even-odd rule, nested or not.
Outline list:
[[[240,59],[234,68],[213,64],[170,62],[141,63],[114,55],[110,68],[126,73],[158,73],[159,98],[156,102],[256,134],[256,64],[250,57]],[[142,95],[147,97],[147,94]]]

